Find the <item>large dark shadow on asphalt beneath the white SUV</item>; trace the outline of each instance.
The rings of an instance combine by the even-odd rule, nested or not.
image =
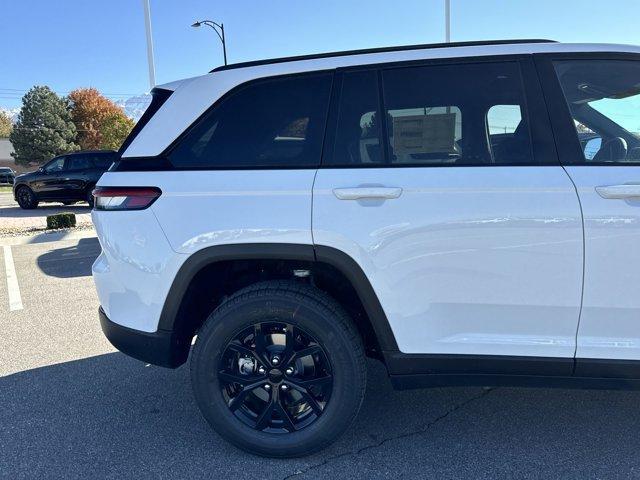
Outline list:
[[[2,377],[0,395],[7,478],[621,478],[640,467],[637,392],[396,392],[375,361],[355,424],[293,460],[210,430],[187,367],[111,353]]]

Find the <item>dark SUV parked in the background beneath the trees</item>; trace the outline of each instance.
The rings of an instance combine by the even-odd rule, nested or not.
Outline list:
[[[60,155],[35,172],[18,175],[13,197],[25,209],[36,208],[41,201],[70,204],[84,200],[93,207],[93,187],[117,156],[112,150]]]

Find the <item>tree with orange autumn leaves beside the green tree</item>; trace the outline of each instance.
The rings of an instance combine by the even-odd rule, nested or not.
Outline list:
[[[82,149],[117,149],[133,128],[124,110],[95,88],[74,90],[69,101]]]

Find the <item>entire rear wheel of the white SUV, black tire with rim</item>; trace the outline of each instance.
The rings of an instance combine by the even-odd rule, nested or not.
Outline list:
[[[256,324],[260,325],[257,327],[259,330],[256,330]],[[246,380],[246,383],[252,387],[247,389],[250,392],[246,395],[247,400],[234,413],[230,405],[241,395],[238,393],[230,400],[225,395],[228,395],[230,390],[234,391],[240,384],[225,383],[226,377],[221,378],[225,374],[223,372],[227,372],[227,368],[235,368],[236,357],[233,355],[236,353],[235,350],[240,348],[239,345],[253,346],[252,342],[258,344],[258,339],[261,337],[255,332],[268,332],[271,331],[269,329],[277,329],[280,325],[285,325],[282,331],[287,333],[275,333],[267,337],[274,342],[267,349],[282,348],[275,345],[273,340],[280,335],[283,339],[287,339],[287,346],[293,344],[292,349],[296,353],[292,354],[294,360],[288,365],[294,365],[295,372],[299,372],[300,369],[306,371],[309,363],[312,364],[314,375],[305,383],[309,384],[308,390],[304,392],[305,396],[302,397],[302,394],[298,393],[299,384],[295,382],[300,381],[298,376],[307,378],[306,373],[290,374],[294,366],[284,370],[286,367],[284,359],[287,358],[285,348],[282,353],[283,371],[281,376],[278,374],[278,378],[282,379],[281,383],[278,383],[277,379],[272,383],[273,372],[279,371],[273,364],[266,365],[268,360],[263,362],[256,360],[257,365],[262,363],[269,369],[267,376],[260,377],[257,370],[259,367],[255,366],[255,371],[251,374],[255,374],[255,378],[247,377]],[[242,337],[245,334],[243,332],[254,333],[249,333],[248,343],[236,343],[239,342],[237,336]],[[293,333],[291,336],[290,332]],[[250,340],[251,338],[253,340]],[[293,339],[291,342],[290,338]],[[308,346],[304,347],[304,345]],[[304,357],[303,350],[310,349],[315,353]],[[231,352],[230,362],[226,360],[229,352]],[[296,355],[302,357],[299,358]],[[266,357],[268,358],[268,355]],[[255,358],[264,359],[265,357],[255,354]],[[238,357],[237,361],[240,360]],[[275,360],[272,357],[273,361]],[[303,363],[305,366],[299,367],[299,364]],[[323,370],[325,367],[327,369]],[[239,367],[238,371],[240,371]],[[327,374],[327,371],[330,373]],[[331,379],[330,384],[325,383],[329,382],[328,377]],[[244,377],[240,380],[242,378]],[[254,382],[256,378],[258,381]],[[260,380],[261,378],[265,379],[264,384],[261,383],[263,381]],[[289,380],[292,383],[288,391],[284,391],[283,384],[288,383]],[[191,381],[200,411],[213,429],[227,441],[247,452],[261,456],[298,457],[328,446],[342,435],[355,419],[362,404],[366,386],[364,349],[360,336],[347,313],[324,292],[297,282],[261,282],[232,295],[206,320],[198,332],[191,356]],[[273,385],[269,390],[265,387],[267,382]],[[258,383],[260,386],[253,386]],[[311,386],[311,383],[314,385]],[[319,397],[315,396],[318,392],[321,392]],[[293,412],[296,412],[295,415],[301,416],[302,419],[296,416],[292,418],[282,409],[282,406],[291,408],[287,401],[294,395],[302,397],[303,407],[297,403],[293,409]],[[314,404],[315,408],[311,408],[315,400],[307,403],[305,399],[312,396],[314,399],[323,398],[325,402],[318,401]],[[253,414],[246,405],[249,405],[249,400],[261,402],[262,400],[258,397],[269,399],[264,401],[267,406],[274,405],[267,420],[268,427],[265,429],[257,428],[264,413],[255,417],[246,413],[249,411]],[[273,400],[274,397],[277,401]],[[277,407],[278,403],[281,407]],[[321,403],[324,407],[320,411]],[[276,411],[276,408],[279,410]],[[267,410],[268,408],[265,408],[262,412]],[[302,414],[297,413],[300,410]],[[276,413],[273,413],[274,411]],[[287,411],[291,412],[291,410]],[[286,425],[285,417],[279,412],[283,412],[289,419]],[[253,425],[250,424],[251,418],[255,419]],[[300,423],[296,424],[297,421]],[[293,431],[291,427],[294,427]]]

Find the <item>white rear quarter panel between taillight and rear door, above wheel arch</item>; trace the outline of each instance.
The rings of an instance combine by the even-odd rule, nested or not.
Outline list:
[[[150,207],[171,248],[192,254],[234,243],[312,244],[315,169],[106,173],[101,186],[153,186]]]

